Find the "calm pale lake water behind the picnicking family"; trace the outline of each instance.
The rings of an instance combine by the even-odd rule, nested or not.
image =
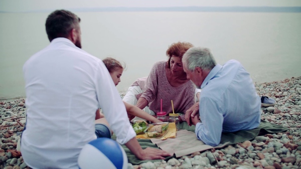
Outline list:
[[[118,90],[147,76],[177,41],[211,49],[216,61],[239,60],[253,81],[301,76],[301,13],[75,12],[82,48],[126,63]],[[49,44],[49,13],[0,13],[0,99],[25,96],[22,67]]]

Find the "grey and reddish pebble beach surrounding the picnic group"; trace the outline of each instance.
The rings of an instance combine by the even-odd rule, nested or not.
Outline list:
[[[286,132],[168,161],[128,163],[128,168],[301,168],[301,76],[254,84],[259,95],[276,100],[274,106],[261,107],[261,119],[289,128]],[[16,149],[26,122],[25,109],[25,98],[0,100],[0,168],[29,168]]]

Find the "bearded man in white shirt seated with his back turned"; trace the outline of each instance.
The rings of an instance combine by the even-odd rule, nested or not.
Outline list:
[[[27,123],[21,152],[32,168],[78,168],[81,148],[96,138],[101,107],[120,144],[139,159],[163,159],[161,149],[142,149],[125,106],[103,62],[81,49],[80,18],[56,10],[46,20],[51,43],[23,67]]]

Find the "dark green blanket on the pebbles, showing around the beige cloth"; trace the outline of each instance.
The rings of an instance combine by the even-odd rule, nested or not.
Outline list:
[[[180,124],[181,129],[187,129],[189,131],[195,131],[195,126],[189,126],[187,122],[183,122]],[[276,132],[284,132],[288,130],[288,128],[272,124],[266,121],[261,120],[260,125],[257,128],[251,129],[251,130],[240,130],[236,132],[223,132],[221,137],[220,143],[230,142],[227,145],[235,144],[238,142],[243,142],[246,140],[253,140],[258,135],[264,135],[267,133],[276,133]],[[113,134],[112,139],[116,139],[116,136]],[[156,144],[152,143],[150,139],[138,139],[138,142],[140,143],[141,147],[144,149],[146,147],[153,147],[153,148],[159,148]],[[134,154],[131,153],[131,151],[125,146],[122,145],[123,149],[126,152],[128,162],[132,163],[133,165],[140,164],[147,161],[160,161],[160,159],[157,160],[139,160]],[[165,158],[165,160],[168,160],[170,158],[173,158],[174,156],[169,156]]]

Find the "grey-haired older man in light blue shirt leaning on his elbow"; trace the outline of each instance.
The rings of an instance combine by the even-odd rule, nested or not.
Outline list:
[[[204,143],[216,146],[222,132],[256,128],[260,123],[260,98],[250,74],[237,60],[217,64],[208,48],[192,47],[183,58],[187,78],[202,88],[199,113],[185,114]],[[198,118],[200,116],[200,119]]]

